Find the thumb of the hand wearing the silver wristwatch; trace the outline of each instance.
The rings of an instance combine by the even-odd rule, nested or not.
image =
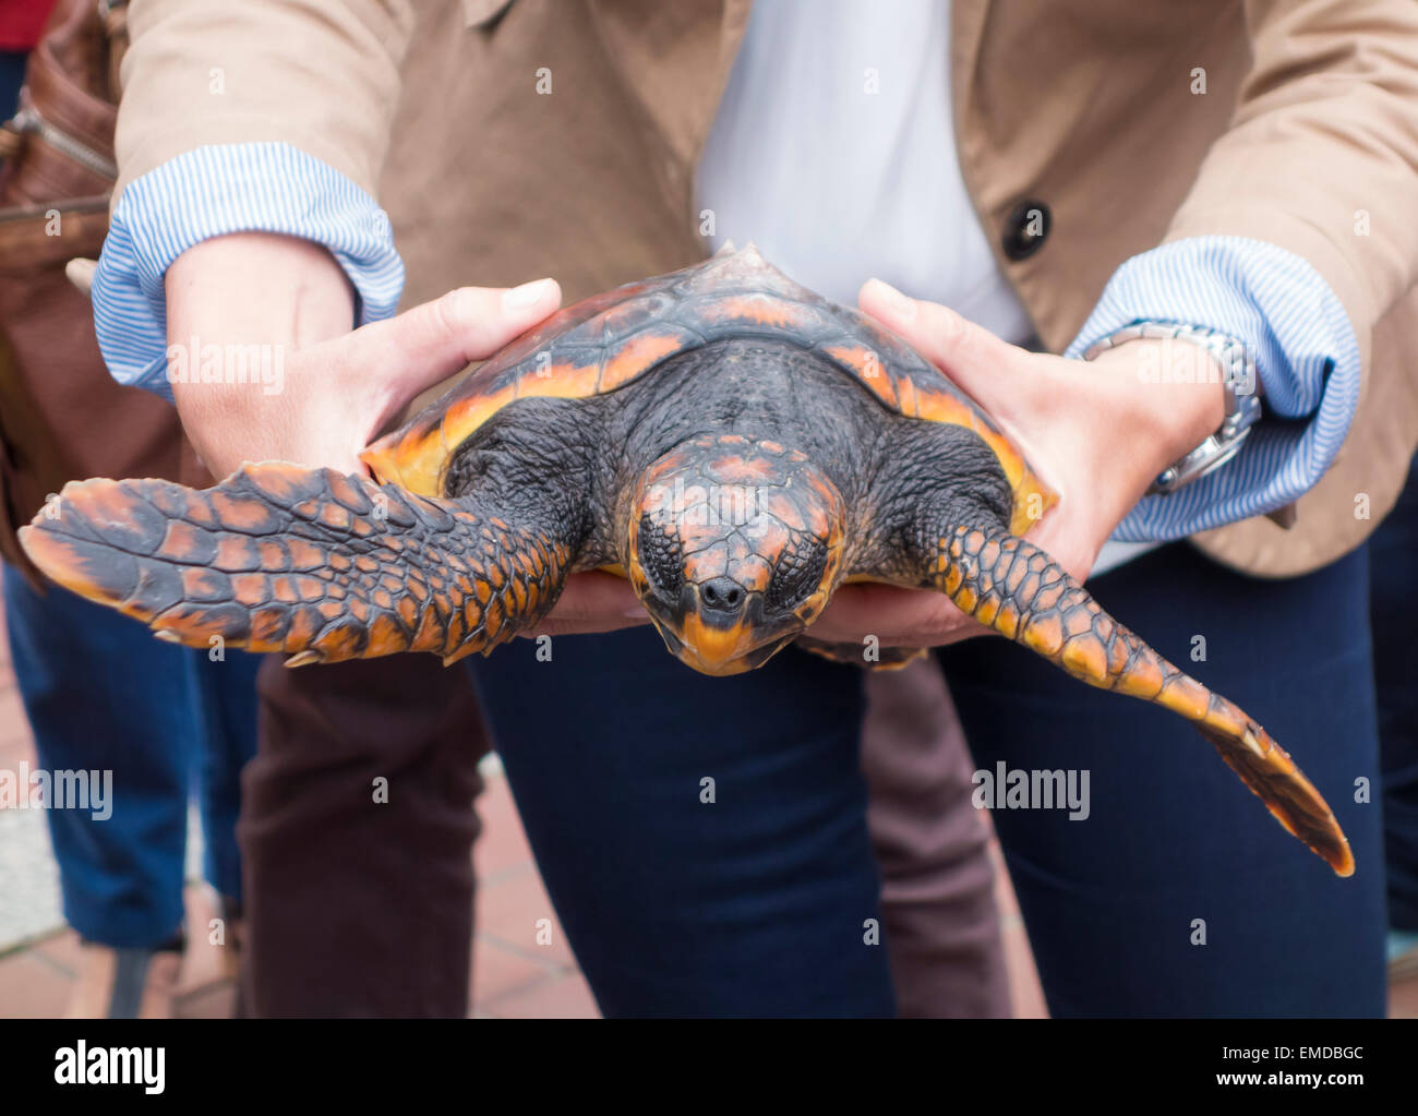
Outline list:
[[[862,311],[889,326],[923,357],[997,414],[1015,390],[1007,373],[1022,352],[939,302],[903,295],[891,284],[868,279],[856,296]]]

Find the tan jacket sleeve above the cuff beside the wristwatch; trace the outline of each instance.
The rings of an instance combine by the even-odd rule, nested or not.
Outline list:
[[[1418,3],[1246,0],[1252,64],[1168,241],[1234,235],[1307,261],[1367,380],[1373,325],[1418,279]]]

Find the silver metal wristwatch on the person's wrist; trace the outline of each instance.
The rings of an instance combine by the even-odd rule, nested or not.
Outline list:
[[[1201,445],[1174,461],[1159,474],[1147,489],[1149,496],[1176,492],[1225,465],[1241,450],[1251,427],[1261,418],[1261,381],[1255,373],[1255,357],[1235,337],[1215,329],[1184,326],[1168,322],[1139,322],[1095,342],[1083,353],[1092,360],[1099,353],[1130,340],[1181,340],[1205,349],[1221,367],[1221,384],[1227,394],[1227,417]],[[1161,370],[1168,374],[1167,369]]]

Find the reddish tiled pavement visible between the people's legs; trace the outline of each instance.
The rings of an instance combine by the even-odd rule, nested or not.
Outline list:
[[[3,617],[0,617],[3,625]],[[33,740],[10,669],[9,644],[0,638],[0,767],[34,763]],[[472,947],[472,1015],[478,1018],[594,1018],[596,1001],[576,969],[532,852],[506,780],[489,771],[478,808],[484,835],[476,842],[478,929]],[[1042,1017],[1044,997],[1014,893],[991,842],[998,868],[998,902],[1014,1012]],[[57,874],[43,814],[0,811],[0,1017],[54,1017],[64,1011],[78,966],[78,942],[62,929]],[[208,917],[206,889],[187,893],[191,925]],[[550,939],[536,944],[537,923],[549,920]],[[218,1018],[231,1011],[228,959],[203,937],[189,949],[179,978],[176,1011],[186,1018]],[[1418,977],[1394,987],[1392,1014],[1418,1018]]]

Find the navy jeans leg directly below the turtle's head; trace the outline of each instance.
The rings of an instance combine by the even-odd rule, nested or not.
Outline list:
[[[536,652],[472,672],[601,1010],[892,1014],[858,669],[790,648],[706,678],[649,628]]]

